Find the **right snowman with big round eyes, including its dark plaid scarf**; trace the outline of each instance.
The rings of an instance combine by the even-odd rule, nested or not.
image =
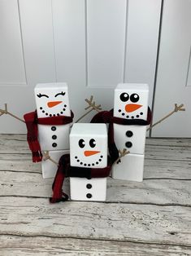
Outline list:
[[[109,123],[108,147],[112,162],[119,158],[118,149],[130,152],[113,165],[114,179],[143,179],[146,126],[151,121],[148,96],[146,84],[119,84],[115,88],[114,109],[98,113],[91,121]]]

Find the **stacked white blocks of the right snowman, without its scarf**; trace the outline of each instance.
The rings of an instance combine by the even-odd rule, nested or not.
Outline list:
[[[146,84],[119,84],[115,88],[114,116],[127,120],[147,119],[149,87]],[[114,179],[142,181],[146,126],[114,124],[117,148],[130,153],[113,166]]]

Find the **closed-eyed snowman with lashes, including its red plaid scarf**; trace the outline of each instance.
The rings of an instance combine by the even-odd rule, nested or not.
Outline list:
[[[69,149],[69,133],[73,118],[67,83],[37,84],[34,94],[37,111],[24,115],[33,161],[41,161],[41,151],[48,151],[54,161],[59,161]],[[42,161],[41,169],[43,178],[53,178],[57,166],[51,161]]]

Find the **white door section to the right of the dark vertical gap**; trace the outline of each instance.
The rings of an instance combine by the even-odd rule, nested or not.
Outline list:
[[[187,83],[187,77],[190,76],[190,42],[191,2],[164,1],[154,121],[169,113],[175,103],[184,104],[186,111],[177,113],[156,126],[153,136],[191,136],[191,87],[189,81]]]

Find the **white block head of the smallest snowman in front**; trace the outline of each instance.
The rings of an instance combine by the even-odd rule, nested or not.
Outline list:
[[[71,166],[104,168],[107,165],[107,131],[105,124],[79,123],[70,134]]]

